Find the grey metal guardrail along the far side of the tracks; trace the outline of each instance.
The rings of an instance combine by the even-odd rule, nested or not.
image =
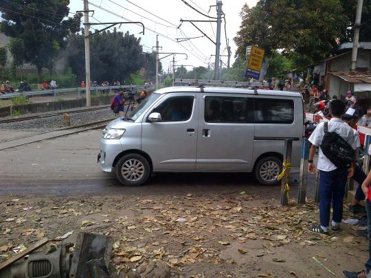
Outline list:
[[[120,86],[91,86],[90,91],[91,93],[100,93],[102,91],[107,91],[111,93],[113,90],[123,89],[125,91],[138,91],[138,90],[146,90],[151,89],[153,86],[151,85],[120,85]],[[19,97],[19,96],[32,96],[32,95],[54,95],[54,97],[58,97],[60,93],[70,93],[70,92],[77,92],[78,97],[82,93],[85,93],[86,88],[63,88],[63,89],[45,89],[45,90],[35,90],[35,91],[16,91],[14,93],[4,93],[0,95],[0,100],[9,99],[12,97]]]

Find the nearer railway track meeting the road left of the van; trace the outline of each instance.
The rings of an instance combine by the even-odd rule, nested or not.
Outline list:
[[[117,119],[117,118],[114,117],[111,119],[104,119],[102,121],[95,121],[95,122],[88,123],[88,124],[81,124],[80,126],[71,126],[69,128],[62,128],[59,130],[38,133],[36,135],[28,135],[25,137],[19,137],[16,139],[9,139],[7,141],[1,141],[0,150],[8,150],[10,148],[24,146],[30,143],[36,143],[36,142],[43,141],[43,140],[49,140],[49,139],[54,139],[58,137],[64,137],[67,135],[73,135],[75,133],[84,132],[87,130],[104,128],[104,126],[106,126],[106,124],[108,124],[109,121],[112,121],[113,119]]]

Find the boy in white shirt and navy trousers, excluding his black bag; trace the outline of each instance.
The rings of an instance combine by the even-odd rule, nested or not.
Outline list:
[[[341,119],[344,114],[345,104],[341,100],[333,100],[330,103],[331,119],[328,121],[328,132],[335,132],[348,143],[353,150],[357,148],[357,138],[355,138],[352,128]],[[315,151],[319,147],[318,170],[319,170],[319,220],[320,224],[307,227],[314,233],[328,234],[330,224],[330,208],[333,205],[333,221],[331,229],[337,231],[340,228],[341,219],[343,218],[343,200],[346,187],[347,177],[351,178],[355,172],[355,159],[348,169],[347,167],[337,167],[333,162],[324,155],[321,143],[325,135],[324,123],[315,128],[309,141],[312,147],[308,159],[308,172],[315,173],[315,164],[313,158]],[[336,162],[335,162],[336,163]]]

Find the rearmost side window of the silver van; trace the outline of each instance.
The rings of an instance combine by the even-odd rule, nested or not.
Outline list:
[[[293,100],[255,98],[254,122],[257,124],[292,124]]]

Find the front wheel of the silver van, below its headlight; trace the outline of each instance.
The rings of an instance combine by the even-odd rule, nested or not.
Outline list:
[[[126,154],[116,164],[116,176],[123,185],[142,185],[150,176],[150,165],[140,154]]]

